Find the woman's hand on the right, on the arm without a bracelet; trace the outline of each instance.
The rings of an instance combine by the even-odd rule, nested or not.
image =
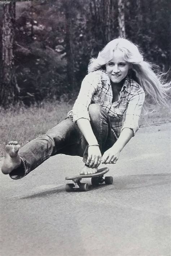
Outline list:
[[[109,148],[102,156],[102,164],[116,164],[118,161],[120,150],[114,146]]]

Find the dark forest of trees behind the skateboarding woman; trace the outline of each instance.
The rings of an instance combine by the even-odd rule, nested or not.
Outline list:
[[[90,58],[118,36],[170,79],[169,2],[0,2],[0,105],[75,99]]]

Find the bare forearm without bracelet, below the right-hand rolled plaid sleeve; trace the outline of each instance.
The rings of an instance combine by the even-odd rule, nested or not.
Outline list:
[[[118,140],[115,142],[113,147],[118,149],[118,151],[122,151],[124,146],[128,143],[128,141],[132,138],[133,131],[130,128],[124,128],[118,138]]]

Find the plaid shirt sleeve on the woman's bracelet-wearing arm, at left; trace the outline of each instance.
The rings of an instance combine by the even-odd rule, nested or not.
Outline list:
[[[93,94],[101,87],[101,76],[99,73],[91,72],[83,79],[78,98],[73,106],[73,121],[76,122],[80,118],[90,121],[88,107],[91,103]]]

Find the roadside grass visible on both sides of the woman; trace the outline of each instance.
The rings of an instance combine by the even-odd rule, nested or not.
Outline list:
[[[0,108],[0,157],[4,156],[5,144],[17,140],[24,146],[30,140],[44,134],[62,121],[72,109],[72,103],[43,102],[39,106],[18,105],[5,110]],[[157,111],[141,117],[140,126],[156,125],[170,121],[170,109],[158,107]]]

